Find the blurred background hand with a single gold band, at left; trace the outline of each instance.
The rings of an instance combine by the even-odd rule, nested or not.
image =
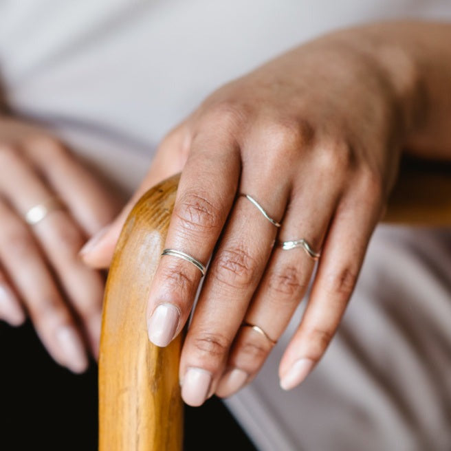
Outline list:
[[[54,209],[28,225],[26,212],[40,203]],[[28,314],[54,360],[76,373],[87,350],[98,354],[104,287],[78,251],[119,207],[58,140],[1,118],[0,318],[20,325]]]

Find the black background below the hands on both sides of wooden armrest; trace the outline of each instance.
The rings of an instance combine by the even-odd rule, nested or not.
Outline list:
[[[73,375],[50,359],[30,323],[13,329],[3,322],[0,362],[0,450],[97,450],[94,364]],[[184,443],[196,451],[255,449],[219,399],[186,408]]]

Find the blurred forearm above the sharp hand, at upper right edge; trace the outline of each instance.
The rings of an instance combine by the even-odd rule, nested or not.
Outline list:
[[[451,23],[391,22],[336,33],[386,71],[406,115],[403,146],[451,159]]]

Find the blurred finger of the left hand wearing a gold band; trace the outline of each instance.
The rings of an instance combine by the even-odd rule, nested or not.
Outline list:
[[[16,190],[14,186],[21,186],[21,189]],[[9,155],[8,170],[2,177],[0,187],[14,208],[23,213],[53,196],[53,192],[18,153]],[[63,210],[47,214],[33,226],[32,231],[83,322],[92,352],[97,355],[103,281],[100,274],[85,267],[78,259],[78,250],[84,241],[83,233]]]

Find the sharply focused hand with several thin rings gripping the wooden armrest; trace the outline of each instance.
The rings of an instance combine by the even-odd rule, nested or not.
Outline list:
[[[162,142],[133,199],[183,168],[165,248],[203,264],[212,256],[181,354],[192,406],[250,382],[305,295],[314,260],[278,242],[305,239],[321,252],[279,368],[283,388],[302,382],[336,332],[397,175],[415,88],[402,65],[393,65],[397,83],[362,41],[326,36],[216,91]],[[132,203],[87,263],[109,262]],[[195,265],[162,257],[148,300],[152,342],[166,346],[183,329],[200,280]]]

